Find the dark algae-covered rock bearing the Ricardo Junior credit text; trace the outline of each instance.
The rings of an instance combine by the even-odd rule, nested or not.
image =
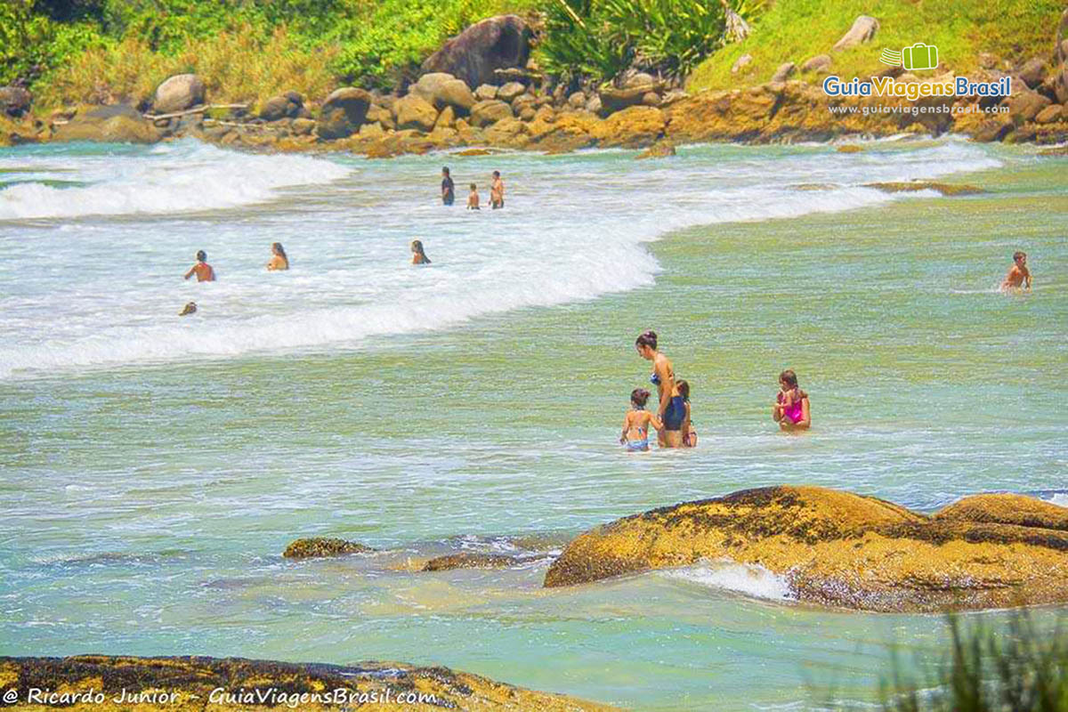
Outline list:
[[[446,667],[414,667],[399,663],[341,666],[240,658],[0,658],[0,682],[5,690],[17,691],[13,703],[4,699],[4,707],[15,710],[593,712],[614,709],[563,695],[514,687]],[[28,699],[32,689],[36,689],[38,695],[66,697],[35,701]]]

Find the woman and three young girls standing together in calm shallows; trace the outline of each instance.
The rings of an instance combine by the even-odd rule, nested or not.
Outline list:
[[[659,447],[696,447],[697,430],[690,406],[690,384],[675,378],[671,360],[657,348],[655,331],[642,332],[634,349],[653,362],[649,382],[657,386],[656,412],[646,410],[651,394],[645,389],[630,392],[630,409],[623,418],[619,444],[628,452],[649,449],[649,428],[657,431]],[[798,386],[798,377],[787,369],[779,375],[779,393],[771,408],[771,418],[784,431],[807,430],[812,426],[808,394]]]

